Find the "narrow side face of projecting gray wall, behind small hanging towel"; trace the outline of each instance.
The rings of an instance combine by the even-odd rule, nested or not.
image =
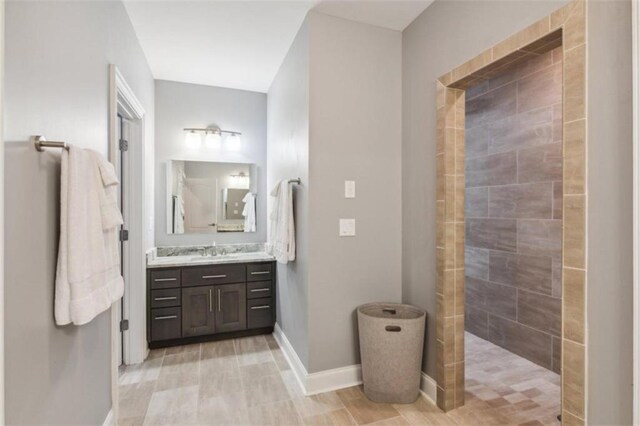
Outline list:
[[[277,321],[309,369],[309,22],[298,31],[269,88],[267,187],[299,177],[294,185],[296,260],[278,263]],[[269,197],[269,211],[272,198]]]

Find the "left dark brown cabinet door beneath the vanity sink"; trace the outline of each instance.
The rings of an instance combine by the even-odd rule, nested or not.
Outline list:
[[[182,289],[182,337],[215,332],[214,287]]]

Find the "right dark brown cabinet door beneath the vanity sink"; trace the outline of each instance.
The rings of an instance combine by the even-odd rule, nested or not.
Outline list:
[[[247,328],[246,284],[226,284],[215,287],[216,331],[245,330]]]

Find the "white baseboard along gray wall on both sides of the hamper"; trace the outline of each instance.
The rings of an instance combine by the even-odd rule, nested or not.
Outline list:
[[[273,330],[273,336],[280,345],[282,353],[289,366],[291,366],[296,381],[305,395],[330,392],[362,383],[362,368],[360,364],[308,373],[289,339],[287,339],[287,336],[277,323]],[[422,373],[420,380],[420,391],[435,404],[437,397],[436,381],[425,373]]]

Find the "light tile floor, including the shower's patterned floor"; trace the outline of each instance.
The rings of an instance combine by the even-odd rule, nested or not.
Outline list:
[[[423,397],[409,405],[376,404],[359,386],[305,397],[267,335],[152,351],[144,363],[121,372],[118,424],[556,422],[557,375],[475,336],[467,338],[467,403],[446,414]]]

